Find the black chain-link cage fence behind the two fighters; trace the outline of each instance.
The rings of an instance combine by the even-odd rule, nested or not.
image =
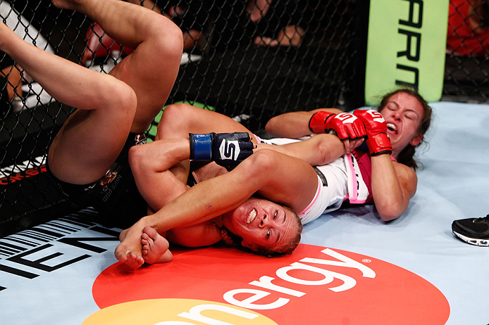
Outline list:
[[[184,35],[167,104],[185,101],[216,110],[257,134],[270,117],[287,111],[364,105],[369,1],[131,2],[171,18]],[[485,0],[450,1],[445,99],[487,100],[489,41],[459,23],[476,17],[485,28],[486,6]],[[109,72],[133,51],[85,15],[49,0],[0,0],[0,17],[26,42],[92,70]],[[461,50],[477,47],[464,41],[467,33],[481,51]],[[450,36],[457,39],[455,48]],[[70,210],[46,176],[45,163],[50,142],[75,108],[51,98],[6,53],[0,52],[0,64],[2,236]],[[148,135],[154,132],[149,129]]]

